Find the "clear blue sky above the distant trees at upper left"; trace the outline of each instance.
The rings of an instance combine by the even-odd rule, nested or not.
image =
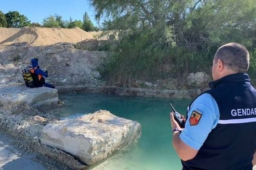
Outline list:
[[[95,10],[90,6],[90,0],[0,0],[0,11],[18,11],[31,22],[42,23],[49,15],[61,15],[63,20],[82,20],[84,12],[98,25],[94,19]]]

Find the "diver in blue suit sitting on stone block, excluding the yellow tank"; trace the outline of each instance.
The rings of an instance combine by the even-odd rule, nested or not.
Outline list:
[[[43,71],[39,68],[38,59],[33,58],[31,60],[32,68],[29,69],[30,73],[32,74],[32,78],[34,81],[35,87],[48,87],[48,88],[55,88],[54,85],[51,85],[45,82],[44,77],[48,77],[48,71]]]

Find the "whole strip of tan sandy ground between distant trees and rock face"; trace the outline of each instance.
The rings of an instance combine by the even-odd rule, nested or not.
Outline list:
[[[43,28],[23,27],[0,28],[0,45],[15,43],[27,43],[33,46],[53,45],[59,42],[76,43],[84,40],[108,40],[115,39],[114,31],[102,34],[102,31],[87,32],[80,28]]]

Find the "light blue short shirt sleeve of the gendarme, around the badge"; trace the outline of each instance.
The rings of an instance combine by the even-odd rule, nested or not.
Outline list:
[[[201,114],[197,125],[190,125],[189,118],[196,111]],[[199,150],[208,134],[216,127],[219,119],[218,105],[210,94],[202,94],[192,103],[185,128],[180,139],[195,150]]]

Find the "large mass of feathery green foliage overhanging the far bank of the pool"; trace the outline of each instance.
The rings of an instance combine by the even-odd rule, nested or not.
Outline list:
[[[91,0],[96,18],[112,18],[104,30],[119,31],[119,45],[101,68],[106,79],[181,78],[210,72],[215,51],[227,42],[256,48],[254,0]],[[256,67],[256,66],[255,66]],[[251,69],[251,68],[250,68]]]

